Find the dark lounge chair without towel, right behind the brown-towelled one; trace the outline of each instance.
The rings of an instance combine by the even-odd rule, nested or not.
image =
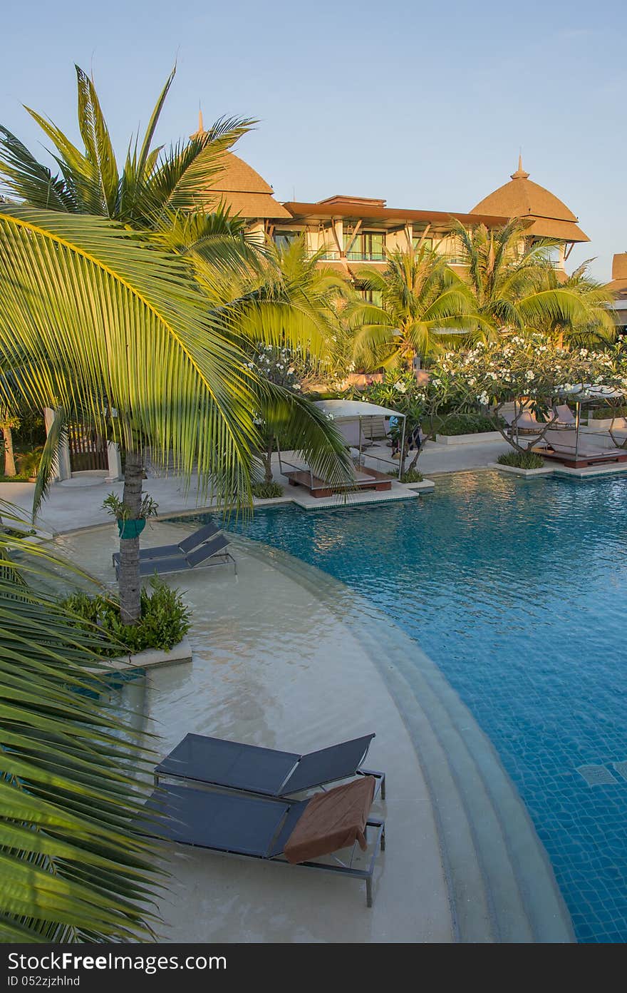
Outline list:
[[[309,755],[297,755],[223,738],[186,735],[155,769],[155,784],[167,777],[266,796],[289,796],[353,776],[374,776],[381,783],[381,797],[385,799],[385,773],[361,768],[374,737],[365,735]]]

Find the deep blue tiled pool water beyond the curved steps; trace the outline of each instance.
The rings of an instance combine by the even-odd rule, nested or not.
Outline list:
[[[627,781],[612,765],[627,760],[627,480],[464,474],[433,497],[268,508],[238,529],[420,641],[516,782],[577,938],[627,940]],[[585,766],[614,781],[588,785]]]

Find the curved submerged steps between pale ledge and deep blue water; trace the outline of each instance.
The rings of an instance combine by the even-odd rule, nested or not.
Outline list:
[[[527,809],[438,666],[365,598],[284,552],[272,555],[350,628],[403,716],[432,793],[457,939],[572,941]]]

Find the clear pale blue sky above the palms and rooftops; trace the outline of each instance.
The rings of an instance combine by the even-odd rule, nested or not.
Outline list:
[[[335,193],[468,211],[531,178],[577,214],[609,279],[627,250],[627,4],[621,0],[109,0],[13,3],[0,122],[33,150],[21,104],[75,128],[73,63],[92,71],[120,155],[175,60],[159,139],[256,117],[240,154],[280,200]]]

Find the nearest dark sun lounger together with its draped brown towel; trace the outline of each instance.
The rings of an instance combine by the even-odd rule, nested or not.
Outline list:
[[[298,864],[365,880],[366,903],[372,907],[372,875],[379,850],[385,848],[385,822],[371,817],[375,780],[335,786],[305,800],[269,799],[223,793],[191,786],[163,784],[150,796],[146,814],[136,821],[142,833],[181,845],[225,855]],[[363,868],[339,861],[341,848],[366,850],[367,829],[372,853]],[[314,862],[332,857],[333,862]]]

